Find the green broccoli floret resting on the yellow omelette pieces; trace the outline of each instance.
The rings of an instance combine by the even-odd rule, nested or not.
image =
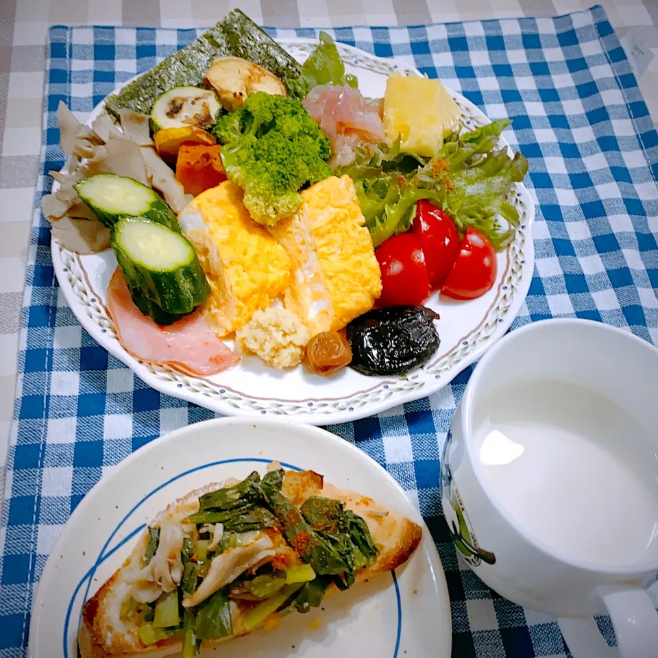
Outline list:
[[[329,140],[297,99],[250,94],[212,132],[224,144],[226,175],[243,188],[258,223],[273,226],[291,215],[302,202],[300,189],[331,175]]]

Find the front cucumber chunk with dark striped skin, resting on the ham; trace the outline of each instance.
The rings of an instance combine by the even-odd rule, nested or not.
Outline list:
[[[162,224],[122,217],[114,225],[112,248],[136,306],[158,324],[191,313],[210,294],[192,245]]]

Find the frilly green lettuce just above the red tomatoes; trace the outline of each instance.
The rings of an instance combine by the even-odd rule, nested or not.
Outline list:
[[[399,141],[375,152],[359,150],[348,173],[375,247],[395,233],[409,230],[419,199],[429,199],[448,212],[463,234],[469,226],[483,232],[496,249],[507,246],[519,224],[507,200],[515,182],[523,180],[528,161],[496,148],[511,121],[501,119],[466,132],[453,132],[436,158],[400,153]]]

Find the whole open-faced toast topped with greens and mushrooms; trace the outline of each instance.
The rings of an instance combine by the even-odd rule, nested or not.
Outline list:
[[[85,603],[80,653],[192,657],[397,568],[421,535],[313,471],[275,465],[262,479],[207,485],[160,513]]]

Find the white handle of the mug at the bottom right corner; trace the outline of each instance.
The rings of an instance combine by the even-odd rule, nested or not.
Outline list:
[[[562,637],[574,658],[655,658],[658,615],[644,587],[602,587],[618,649],[608,645],[592,617],[559,617]]]

